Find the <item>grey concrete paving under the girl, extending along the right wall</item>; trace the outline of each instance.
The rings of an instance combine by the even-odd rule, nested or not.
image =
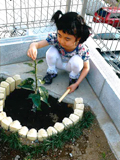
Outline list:
[[[44,63],[38,64],[38,75],[41,78],[45,75],[46,69],[47,64],[45,60]],[[20,74],[21,78],[25,79],[27,77],[32,77],[32,75],[25,73],[29,70],[31,70],[31,67],[28,67],[28,65],[25,65],[24,63],[17,63],[1,66],[0,73],[9,76]],[[46,85],[45,87],[48,89],[49,94],[59,98],[66,91],[68,83],[68,73],[59,70],[58,76],[53,80],[53,83],[51,85]],[[105,133],[113,153],[117,160],[120,160],[120,135],[86,79],[83,80],[79,88],[74,93],[65,97],[64,102],[74,103],[74,99],[76,97],[82,97],[84,104],[86,106],[90,106],[96,115],[101,129]]]

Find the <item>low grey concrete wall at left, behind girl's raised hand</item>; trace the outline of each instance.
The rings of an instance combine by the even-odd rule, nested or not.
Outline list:
[[[7,65],[13,63],[19,63],[30,60],[27,56],[27,50],[29,45],[40,40],[41,37],[38,35],[8,38],[0,40],[0,65]],[[48,47],[38,49],[37,58],[45,56]]]

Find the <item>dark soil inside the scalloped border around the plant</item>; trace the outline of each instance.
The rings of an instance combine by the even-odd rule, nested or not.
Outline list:
[[[67,103],[58,103],[57,99],[49,96],[48,102],[41,103],[42,111],[32,111],[32,100],[28,99],[30,90],[16,89],[12,92],[5,102],[5,109],[7,116],[13,120],[18,120],[22,126],[27,126],[29,129],[40,128],[47,129],[49,126],[54,126],[55,122],[62,122],[64,117],[69,117],[73,113],[73,109],[68,107]]]

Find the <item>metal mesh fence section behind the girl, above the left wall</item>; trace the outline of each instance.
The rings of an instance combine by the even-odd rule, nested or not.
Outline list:
[[[72,0],[3,0],[0,1],[0,38],[47,32],[57,10],[81,12],[82,1]],[[47,27],[46,27],[47,26]],[[41,27],[44,29],[41,30]],[[51,27],[52,31],[52,27]]]

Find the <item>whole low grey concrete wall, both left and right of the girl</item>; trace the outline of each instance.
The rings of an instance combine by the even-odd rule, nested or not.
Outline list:
[[[26,53],[31,42],[38,36],[26,36],[0,40],[0,65],[30,60]],[[120,132],[120,79],[94,48],[92,39],[87,40],[91,52],[91,69],[87,80]],[[38,50],[38,58],[44,57],[48,47]]]

